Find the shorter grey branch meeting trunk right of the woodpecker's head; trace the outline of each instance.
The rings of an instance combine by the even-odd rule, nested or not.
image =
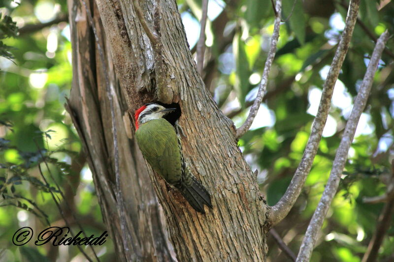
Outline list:
[[[282,1],[276,0],[275,10],[277,11],[277,16],[275,17],[274,31],[271,36],[271,44],[269,46],[267,59],[265,60],[262,80],[259,85],[259,91],[257,92],[257,96],[255,102],[253,103],[253,106],[250,108],[248,117],[246,118],[245,122],[239,128],[237,128],[236,138],[240,138],[249,130],[250,126],[253,123],[253,120],[257,115],[257,111],[259,111],[260,104],[263,101],[265,89],[268,84],[268,74],[269,71],[271,70],[271,65],[275,58],[276,44],[278,43],[278,39],[279,39],[280,16],[278,14],[281,13],[281,8],[282,8]]]

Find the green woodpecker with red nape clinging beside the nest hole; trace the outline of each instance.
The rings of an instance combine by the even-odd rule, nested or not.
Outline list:
[[[212,207],[211,197],[190,172],[174,127],[163,118],[176,108],[149,103],[135,111],[135,137],[142,155],[152,169],[171,186],[176,187],[198,212],[204,204]]]

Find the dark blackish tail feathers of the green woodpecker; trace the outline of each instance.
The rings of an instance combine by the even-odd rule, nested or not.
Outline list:
[[[204,204],[212,208],[211,196],[196,177],[188,177],[189,183],[182,185],[179,190],[189,204],[198,212],[205,214]]]

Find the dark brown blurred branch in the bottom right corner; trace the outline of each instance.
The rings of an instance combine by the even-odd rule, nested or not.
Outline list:
[[[392,164],[392,175],[391,180],[394,179],[394,159]],[[368,244],[368,248],[362,258],[361,262],[374,262],[378,256],[378,251],[382,245],[383,238],[390,228],[391,218],[394,211],[394,190],[393,187],[387,188],[387,203],[383,207],[382,213],[379,216],[379,220],[376,226],[376,231],[373,234],[371,241]]]

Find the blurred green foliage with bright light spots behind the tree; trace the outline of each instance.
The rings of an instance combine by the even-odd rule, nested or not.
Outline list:
[[[194,53],[201,1],[177,2]],[[258,170],[268,204],[275,204],[283,195],[302,156],[348,4],[347,0],[283,1],[281,16],[285,22],[267,93],[251,130],[239,140],[244,157],[253,170]],[[39,232],[48,222],[65,225],[49,191],[60,202],[66,218],[73,221],[74,214],[88,235],[105,231],[86,156],[64,109],[71,88],[66,0],[0,0],[0,12],[0,261],[34,262],[43,257],[58,262],[84,261],[74,246],[37,248],[31,243],[16,247],[11,242],[12,235],[23,226]],[[209,0],[202,77],[236,126],[245,120],[257,93],[273,17],[270,0]],[[318,155],[296,206],[276,226],[295,253],[324,190],[374,40],[385,29],[394,32],[393,17],[391,0],[361,0],[359,21],[335,86]],[[384,203],[371,204],[364,198],[385,194],[393,179],[393,51],[391,40],[313,262],[361,261],[375,232]],[[391,219],[378,261],[394,261]],[[79,231],[75,222],[71,227]],[[271,237],[268,246],[268,261],[288,261]],[[90,250],[86,252],[92,256]],[[96,247],[96,252],[101,261],[112,261],[110,239]]]

